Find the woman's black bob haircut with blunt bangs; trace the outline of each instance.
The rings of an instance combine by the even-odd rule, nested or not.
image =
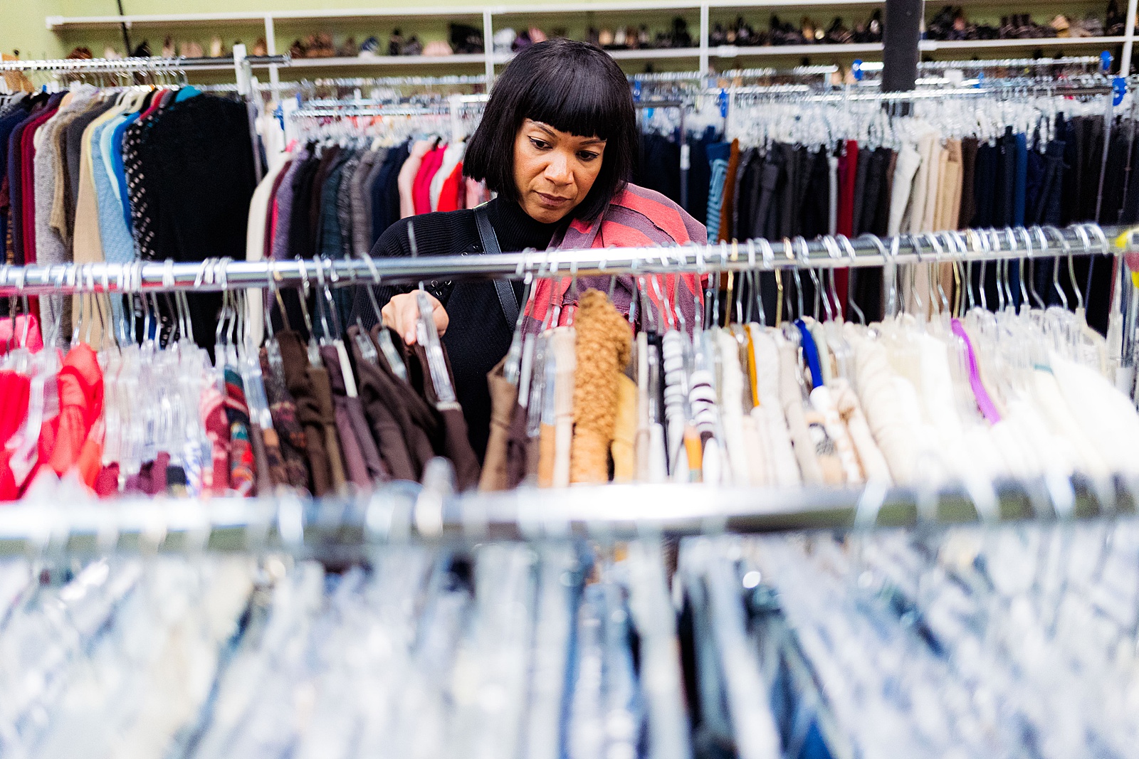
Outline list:
[[[600,216],[629,182],[640,139],[624,73],[606,52],[584,42],[556,39],[526,48],[494,81],[482,122],[467,142],[462,172],[517,201],[514,143],[527,118],[605,140],[601,171],[574,209],[584,221]]]

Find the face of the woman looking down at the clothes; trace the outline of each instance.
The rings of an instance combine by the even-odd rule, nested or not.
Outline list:
[[[527,118],[514,141],[514,181],[523,211],[536,221],[560,221],[589,195],[605,140],[576,137]]]

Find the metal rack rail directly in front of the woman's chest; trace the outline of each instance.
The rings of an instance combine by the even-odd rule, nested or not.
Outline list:
[[[202,263],[56,264],[0,266],[0,296],[79,292],[223,291],[235,288],[300,287],[325,282],[412,282],[431,278],[571,277],[609,274],[721,273],[751,270],[846,269],[916,263],[988,262],[1139,251],[1139,233],[1123,226],[1074,224],[1006,228],[854,240],[825,236],[769,242],[721,242],[681,247],[598,248],[418,258],[322,261],[230,261]]]

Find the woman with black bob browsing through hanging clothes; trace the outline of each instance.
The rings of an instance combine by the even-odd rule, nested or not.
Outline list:
[[[510,253],[551,245],[574,249],[707,239],[704,225],[677,204],[629,184],[638,140],[628,80],[608,55],[571,40],[534,44],[495,81],[482,122],[467,143],[464,174],[485,181],[498,197],[477,209],[402,218],[379,237],[371,255],[412,255],[409,225],[415,229],[417,255],[478,254],[495,245]],[[482,236],[476,215],[490,222]],[[527,328],[541,324],[554,296],[564,304],[559,322],[572,322],[575,296],[589,287],[587,279],[581,278],[573,291],[568,280],[540,283]],[[608,288],[609,278],[601,279],[604,283],[592,284]],[[691,324],[699,287],[693,278],[665,280],[670,308],[680,308]],[[482,460],[491,415],[486,373],[510,347],[523,306],[522,283],[436,280],[425,288],[454,372],[470,443]],[[384,323],[411,345],[419,313],[415,296],[407,288],[382,290],[377,295]],[[629,278],[614,291],[614,305],[623,313],[629,313],[632,291]],[[656,303],[655,295],[648,295]],[[369,317],[375,323],[363,292],[353,311],[366,325],[370,327]]]

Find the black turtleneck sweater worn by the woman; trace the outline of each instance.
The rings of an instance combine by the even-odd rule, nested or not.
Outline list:
[[[517,203],[502,198],[487,204],[487,217],[503,253],[525,248],[544,250],[564,223],[543,224],[534,221]],[[410,256],[409,222],[415,225],[416,248],[420,256],[483,253],[478,228],[475,225],[475,212],[462,209],[401,218],[379,236],[371,250],[372,257]],[[424,282],[424,287],[439,298],[450,317],[443,345],[451,360],[454,391],[467,420],[470,445],[482,461],[491,423],[491,396],[486,387],[486,374],[510,349],[514,324],[507,324],[491,281],[433,280]],[[515,282],[514,287],[515,296],[521,300],[522,283]],[[410,290],[410,287],[376,288],[379,307],[383,308],[393,295]],[[358,289],[352,305],[352,323],[358,314],[368,328],[379,321],[362,288]]]

